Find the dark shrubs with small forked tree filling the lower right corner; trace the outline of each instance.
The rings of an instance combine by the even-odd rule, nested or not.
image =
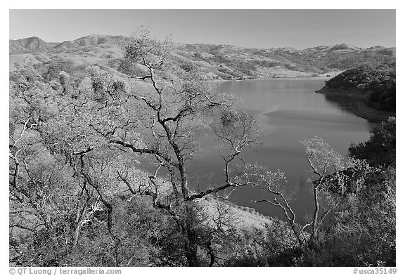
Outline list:
[[[379,143],[392,144],[394,119],[373,130],[367,147]],[[391,135],[381,135],[391,130]],[[237,258],[238,265],[289,266],[394,266],[395,261],[395,171],[392,166],[375,168],[365,160],[349,159],[345,164],[340,155],[321,138],[304,141],[307,161],[315,178],[309,183],[314,191],[314,215],[306,225],[295,222],[295,211],[290,206],[290,192],[285,189],[281,171],[250,169],[250,182],[268,190],[273,200],[262,199],[283,209],[294,233],[290,247],[265,251],[260,256],[250,254]],[[361,144],[363,145],[363,144]],[[359,147],[359,146],[358,146]],[[364,157],[371,154],[367,150]],[[390,155],[378,151],[380,158]],[[366,160],[368,160],[366,158]],[[371,160],[374,155],[371,154]],[[253,173],[252,173],[253,172]],[[252,177],[253,176],[253,177]],[[309,232],[306,229],[311,228]],[[268,245],[264,246],[268,247]],[[274,248],[274,246],[273,246]],[[287,261],[288,260],[288,261]]]

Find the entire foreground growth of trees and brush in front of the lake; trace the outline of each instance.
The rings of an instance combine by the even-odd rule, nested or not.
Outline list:
[[[284,173],[240,158],[260,143],[255,119],[197,67],[171,66],[171,45],[134,35],[123,50],[123,66],[141,68],[131,77],[65,63],[11,73],[11,265],[395,266],[394,119],[349,160],[321,138],[303,142],[314,213],[298,223]],[[188,164],[207,129],[224,177],[198,189]],[[285,221],[240,227],[215,195],[245,185]]]

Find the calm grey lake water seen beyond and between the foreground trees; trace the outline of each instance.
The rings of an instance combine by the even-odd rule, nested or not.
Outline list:
[[[322,137],[335,150],[347,155],[350,143],[368,139],[373,124],[356,117],[349,106],[356,105],[345,98],[326,98],[315,93],[324,84],[322,80],[275,79],[221,82],[217,90],[231,93],[243,100],[238,107],[248,110],[259,121],[263,130],[263,145],[248,149],[243,155],[246,162],[257,162],[270,170],[281,169],[288,185],[297,190],[293,207],[302,218],[312,213],[312,195],[306,182],[311,176],[300,141],[314,136]],[[212,149],[205,145],[189,167],[191,182],[201,188],[223,180],[223,163]],[[243,187],[231,195],[236,204],[254,207],[266,216],[279,216],[281,211],[267,204],[252,204],[252,199],[269,195],[252,187]]]

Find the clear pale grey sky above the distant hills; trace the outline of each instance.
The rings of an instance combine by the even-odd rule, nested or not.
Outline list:
[[[48,42],[89,34],[153,36],[244,47],[395,46],[395,10],[11,10],[10,39]]]

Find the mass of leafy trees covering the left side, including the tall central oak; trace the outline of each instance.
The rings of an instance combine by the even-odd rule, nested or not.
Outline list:
[[[54,69],[49,74],[30,68],[11,76],[11,213],[27,210],[34,216],[11,215],[11,232],[32,233],[25,242],[18,242],[21,233],[13,239],[11,263],[214,265],[229,248],[221,239],[233,235],[226,208],[218,208],[218,217],[206,216],[197,202],[246,185],[233,181],[232,167],[243,148],[256,143],[257,124],[233,110],[224,96],[209,92],[196,67],[172,72],[171,83],[157,77],[155,72],[169,70],[168,41],[150,39],[143,31],[125,47],[127,60],[146,69],[139,77],[146,91],[100,67],[87,68],[79,81]],[[229,114],[231,124],[217,123],[221,114]],[[194,192],[186,164],[207,127],[223,141],[226,182]],[[139,172],[140,162],[150,173]],[[65,172],[65,183],[44,175],[52,167]],[[63,195],[65,189],[72,194]],[[143,201],[150,207],[146,221],[128,211],[139,197],[149,199]],[[160,228],[150,232],[156,225]],[[23,256],[21,246],[28,248]],[[135,248],[141,251],[131,253]]]

